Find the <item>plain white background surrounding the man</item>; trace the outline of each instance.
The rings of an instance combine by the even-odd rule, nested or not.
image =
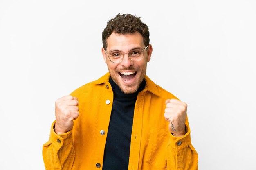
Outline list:
[[[0,169],[44,169],[54,102],[107,72],[120,12],[150,29],[147,75],[188,103],[199,169],[254,169],[255,0],[0,0]]]

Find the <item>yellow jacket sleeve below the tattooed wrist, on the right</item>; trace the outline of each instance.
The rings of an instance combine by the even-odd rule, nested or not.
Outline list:
[[[186,134],[182,137],[170,135],[167,145],[167,170],[198,170],[198,153],[191,144],[189,123],[186,119]]]

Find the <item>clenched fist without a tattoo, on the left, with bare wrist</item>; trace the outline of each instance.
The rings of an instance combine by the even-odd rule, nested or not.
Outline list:
[[[66,133],[70,131],[76,118],[78,118],[78,106],[79,102],[76,97],[63,96],[55,102],[55,128],[54,131],[57,134]]]

